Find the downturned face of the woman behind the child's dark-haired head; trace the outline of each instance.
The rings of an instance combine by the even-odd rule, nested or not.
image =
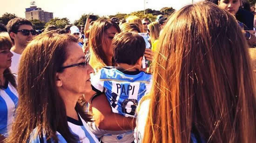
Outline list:
[[[112,40],[115,37],[115,34],[118,33],[116,28],[114,26],[110,26],[105,32],[104,32],[104,39],[106,42],[106,47],[103,48],[105,54],[107,56],[113,56],[113,47],[112,47]]]

